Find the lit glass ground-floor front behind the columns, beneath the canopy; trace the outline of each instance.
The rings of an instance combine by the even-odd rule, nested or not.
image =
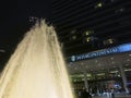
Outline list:
[[[126,76],[128,77],[128,86],[131,86],[131,66],[124,68],[124,72]],[[73,74],[70,75],[70,77],[72,78],[73,87],[75,90],[82,90],[85,87],[83,74]],[[108,88],[116,88],[116,91],[123,90],[121,74],[118,68],[110,71],[87,73],[86,77],[88,81],[90,89],[94,89],[94,87],[96,87],[95,93],[97,93],[97,89],[99,88],[103,88],[103,91],[106,91]]]

